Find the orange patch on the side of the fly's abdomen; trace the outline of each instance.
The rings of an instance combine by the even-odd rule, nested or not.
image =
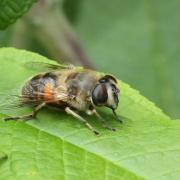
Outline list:
[[[51,83],[47,83],[44,86],[43,98],[44,98],[44,101],[53,101],[54,100],[53,85]]]

